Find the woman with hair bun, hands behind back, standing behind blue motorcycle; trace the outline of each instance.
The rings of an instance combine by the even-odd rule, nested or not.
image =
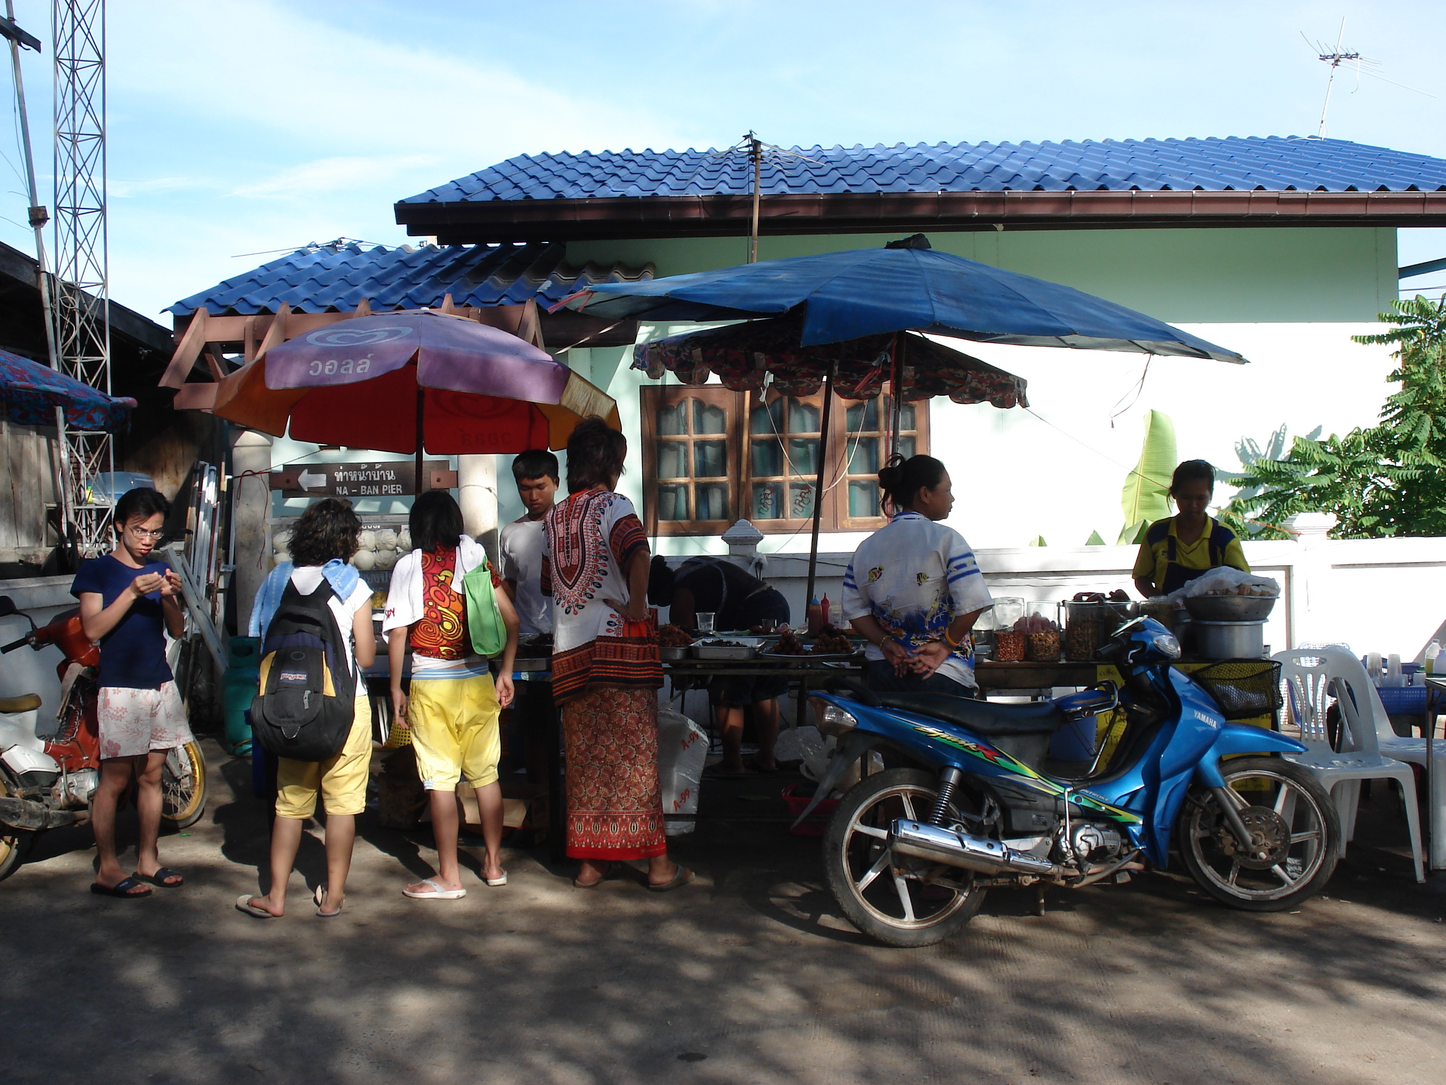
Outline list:
[[[933,456],[892,456],[879,488],[894,518],[855,551],[843,574],[843,616],[869,647],[869,689],[972,697],[969,631],[993,606],[975,554],[938,521],[954,506],[944,464]]]

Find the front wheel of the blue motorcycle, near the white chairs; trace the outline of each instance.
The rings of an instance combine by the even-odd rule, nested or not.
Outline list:
[[[1177,822],[1190,877],[1244,911],[1285,911],[1320,893],[1340,858],[1340,819],[1326,788],[1278,757],[1238,758],[1220,768],[1226,788],[1242,800],[1236,807],[1252,846],[1239,846],[1213,793],[1192,787]]]

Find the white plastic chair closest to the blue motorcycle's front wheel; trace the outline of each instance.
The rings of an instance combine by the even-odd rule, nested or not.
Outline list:
[[[1416,809],[1416,774],[1410,765],[1381,752],[1378,720],[1384,720],[1387,729],[1390,720],[1365,667],[1340,648],[1296,648],[1277,652],[1272,658],[1281,664],[1285,710],[1300,728],[1301,744],[1310,749],[1309,754],[1287,754],[1285,758],[1310,770],[1330,793],[1336,813],[1340,814],[1340,833],[1348,842],[1355,838],[1361,781],[1394,780],[1401,788],[1401,803],[1406,807],[1416,881],[1426,881],[1421,826]],[[1340,706],[1339,751],[1332,748],[1326,729],[1326,710],[1332,700]]]

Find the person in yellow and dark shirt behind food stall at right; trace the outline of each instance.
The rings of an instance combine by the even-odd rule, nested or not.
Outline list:
[[[1170,595],[1202,573],[1233,566],[1245,573],[1245,553],[1235,532],[1205,514],[1215,493],[1215,467],[1205,460],[1186,460],[1170,479],[1176,515],[1158,519],[1145,531],[1135,558],[1135,590],[1150,596]]]

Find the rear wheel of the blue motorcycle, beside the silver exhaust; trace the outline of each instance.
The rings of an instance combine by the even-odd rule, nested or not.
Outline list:
[[[938,781],[918,768],[863,777],[839,801],[824,832],[829,890],[853,926],[888,946],[931,946],[963,927],[985,891],[973,874],[892,854],[885,841],[897,817],[927,820]]]

